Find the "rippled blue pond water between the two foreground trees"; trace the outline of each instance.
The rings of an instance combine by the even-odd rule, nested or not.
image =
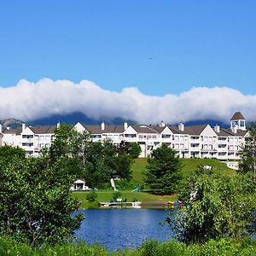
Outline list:
[[[168,212],[160,209],[105,209],[79,210],[85,220],[75,236],[88,244],[99,242],[109,251],[137,247],[146,239],[166,241],[172,231],[160,225]]]

